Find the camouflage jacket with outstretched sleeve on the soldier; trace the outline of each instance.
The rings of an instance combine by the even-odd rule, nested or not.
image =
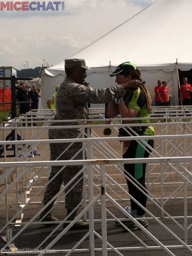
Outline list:
[[[57,92],[57,114],[55,120],[87,119],[87,103],[106,103],[123,95],[123,85],[94,89],[76,84],[66,77]],[[54,125],[82,124],[82,122],[57,123]]]

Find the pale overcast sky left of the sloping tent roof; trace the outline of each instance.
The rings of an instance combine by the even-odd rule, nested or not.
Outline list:
[[[43,60],[55,65],[154,1],[64,0],[64,11],[61,5],[59,11],[0,11],[0,66],[22,69],[29,61],[28,67],[35,68]]]

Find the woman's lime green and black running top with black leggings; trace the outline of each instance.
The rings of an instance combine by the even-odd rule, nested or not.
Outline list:
[[[132,108],[138,111],[136,117],[149,117],[149,111],[147,109],[147,98],[142,88],[138,88],[134,90],[129,96],[125,99],[125,104],[128,108]],[[149,120],[135,120],[132,123],[149,123]],[[142,127],[142,126],[141,126]],[[154,129],[152,126],[145,126],[145,129],[141,132],[140,136],[146,135],[154,135]],[[149,146],[154,147],[154,140],[145,140]],[[148,148],[148,151],[151,150]],[[149,152],[146,151],[145,146],[141,146],[137,141],[132,140],[129,147],[123,154],[123,158],[148,158]],[[144,188],[145,186],[145,171],[146,164],[136,163],[136,164],[124,164],[124,169],[135,178],[139,184],[141,184]],[[125,173],[126,175],[126,173]],[[129,177],[131,178],[131,177]],[[129,180],[127,180],[129,193],[132,195],[140,204],[146,207],[147,197],[144,195],[138,188],[135,187]],[[137,184],[139,186],[139,184]],[[141,186],[140,186],[141,187]],[[142,187],[141,187],[142,188]],[[143,188],[142,188],[143,190]],[[145,191],[146,193],[146,191]],[[131,199],[131,208],[132,210],[136,210],[137,216],[143,216],[145,211],[139,207],[132,199]]]

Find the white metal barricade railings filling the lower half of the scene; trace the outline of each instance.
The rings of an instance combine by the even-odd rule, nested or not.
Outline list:
[[[135,124],[121,124],[115,118],[106,125],[103,108],[89,110],[87,125],[65,126],[81,128],[81,137],[76,139],[48,140],[48,129],[53,126],[54,110],[38,110],[5,122],[0,128],[3,149],[0,160],[0,233],[2,254],[24,255],[180,255],[192,253],[192,107],[154,107],[150,125],[155,128],[155,136],[138,136],[132,130]],[[141,119],[141,118],[140,118]],[[127,120],[127,119],[126,119]],[[69,121],[67,121],[69,122]],[[71,122],[76,122],[72,121]],[[52,126],[50,126],[52,124]],[[139,124],[142,126],[142,124]],[[103,135],[105,127],[112,133]],[[129,140],[137,140],[143,147],[146,139],[155,140],[150,158],[122,159],[118,129],[134,133]],[[91,132],[90,132],[91,131]],[[14,133],[19,140],[6,141],[6,136]],[[83,142],[84,159],[50,161],[50,143]],[[15,157],[7,157],[7,146],[12,146]],[[65,153],[65,152],[63,152]],[[13,155],[14,155],[13,154]],[[87,158],[85,159],[85,155]],[[145,229],[124,209],[129,205],[124,163],[147,163],[146,186],[147,207],[145,219],[149,228]],[[60,219],[55,226],[45,227],[47,222],[39,221],[45,209],[42,199],[48,184],[51,166],[83,165],[84,192],[78,216],[69,221],[64,209],[64,190],[78,177],[79,173],[49,202],[57,199],[52,207],[54,215]],[[56,174],[57,175],[57,174]],[[129,174],[128,174],[129,175]],[[129,179],[129,178],[128,178]],[[132,181],[138,187],[136,180]],[[50,182],[50,181],[49,181]],[[75,186],[75,184],[74,184]],[[141,188],[138,187],[140,190]],[[137,202],[137,201],[136,201]],[[75,209],[74,209],[75,210]],[[132,232],[121,222],[129,218],[140,231]],[[89,229],[72,231],[76,222],[87,221]],[[119,226],[115,224],[119,222]],[[63,224],[69,223],[63,229]],[[124,229],[123,229],[124,228]],[[29,239],[24,239],[28,236]],[[52,250],[52,251],[51,251]],[[152,253],[152,254],[150,254]],[[158,255],[158,254],[157,254]]]

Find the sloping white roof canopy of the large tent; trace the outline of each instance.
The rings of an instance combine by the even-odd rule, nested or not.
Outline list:
[[[192,62],[192,0],[156,0],[71,58],[90,67]],[[63,62],[53,67],[58,69]],[[52,69],[52,68],[51,68]]]

